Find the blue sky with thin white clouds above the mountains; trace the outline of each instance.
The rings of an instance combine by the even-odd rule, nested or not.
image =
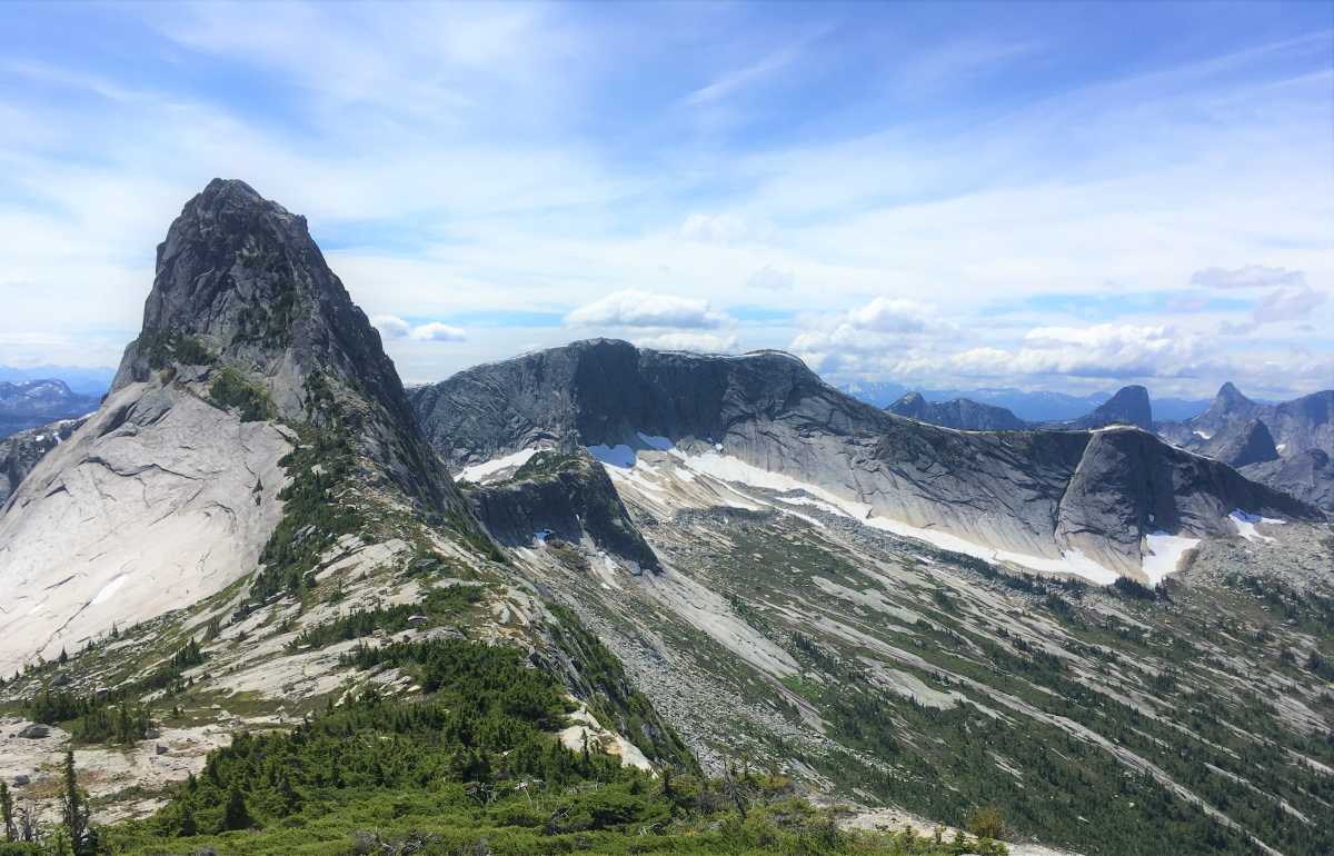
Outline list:
[[[113,365],[228,176],[410,381],[608,335],[1334,385],[1329,3],[9,3],[0,48],[0,364]]]

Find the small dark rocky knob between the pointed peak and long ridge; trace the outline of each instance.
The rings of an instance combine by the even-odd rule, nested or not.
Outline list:
[[[660,568],[607,472],[586,453],[540,452],[512,479],[471,488],[466,496],[500,544],[587,540],[640,569]]]

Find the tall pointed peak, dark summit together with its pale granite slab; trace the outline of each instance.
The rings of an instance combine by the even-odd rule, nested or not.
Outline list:
[[[284,484],[308,476],[285,456],[312,437],[347,449],[358,489],[476,525],[305,220],[213,180],[157,249],[103,407],[44,449],[0,516],[0,668],[253,571]]]

